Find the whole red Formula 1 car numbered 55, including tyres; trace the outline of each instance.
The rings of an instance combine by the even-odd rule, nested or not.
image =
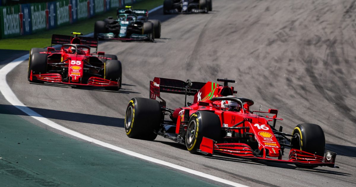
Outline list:
[[[28,81],[121,88],[122,67],[117,56],[98,49],[98,39],[75,36],[52,35],[51,47],[32,48],[28,61]],[[61,44],[57,51],[52,44]]]

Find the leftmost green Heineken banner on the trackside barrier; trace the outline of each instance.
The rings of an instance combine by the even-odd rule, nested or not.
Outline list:
[[[19,5],[1,6],[1,38],[20,36]]]

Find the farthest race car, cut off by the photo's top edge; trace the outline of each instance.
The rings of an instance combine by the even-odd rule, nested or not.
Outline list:
[[[213,10],[212,0],[164,0],[163,14],[208,13]]]

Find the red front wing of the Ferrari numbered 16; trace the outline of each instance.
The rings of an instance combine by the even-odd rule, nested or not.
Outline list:
[[[326,157],[311,154],[309,152],[301,151],[298,149],[290,149],[289,160],[268,158],[266,155],[255,155],[253,150],[247,144],[242,143],[228,143],[217,144],[213,140],[203,137],[198,152],[204,155],[226,154],[242,159],[250,160],[263,160],[282,163],[300,164],[305,166],[335,166],[336,153],[326,150]]]

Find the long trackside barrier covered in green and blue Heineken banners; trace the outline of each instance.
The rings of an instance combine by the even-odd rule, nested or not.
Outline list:
[[[125,0],[57,0],[0,6],[0,38],[72,24],[122,6],[125,6]]]

